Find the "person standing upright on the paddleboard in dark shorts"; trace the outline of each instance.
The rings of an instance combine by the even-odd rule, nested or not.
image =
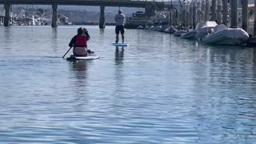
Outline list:
[[[123,34],[125,34],[125,30],[124,30],[124,25],[125,25],[125,14],[122,14],[122,10],[119,9],[118,10],[118,14],[115,15],[114,17],[114,21],[116,22],[116,26],[115,26],[115,34],[116,34],[116,39],[115,39],[115,43],[118,43],[119,41],[119,32],[122,35],[122,43],[125,41],[125,37]]]

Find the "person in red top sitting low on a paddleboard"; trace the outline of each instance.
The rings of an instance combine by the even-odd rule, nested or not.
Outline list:
[[[78,34],[71,39],[69,44],[70,47],[74,47],[73,54],[76,57],[86,57],[87,51],[89,54],[94,53],[91,50],[87,50],[87,41],[90,39],[90,35],[85,30],[82,27],[78,28]]]

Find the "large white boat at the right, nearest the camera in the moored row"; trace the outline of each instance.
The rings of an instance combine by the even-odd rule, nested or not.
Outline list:
[[[241,28],[226,28],[207,35],[206,38],[202,38],[202,42],[205,44],[238,46],[247,42],[248,38],[249,34]]]

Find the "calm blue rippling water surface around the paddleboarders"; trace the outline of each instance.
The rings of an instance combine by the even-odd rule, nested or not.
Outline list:
[[[0,26],[1,143],[256,142],[256,49],[87,26],[101,58],[68,62],[77,28]]]

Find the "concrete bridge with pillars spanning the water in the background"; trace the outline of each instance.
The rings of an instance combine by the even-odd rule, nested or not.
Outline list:
[[[154,14],[154,10],[162,10],[166,5],[157,0],[0,0],[6,10],[4,26],[10,26],[11,5],[51,5],[53,9],[52,27],[58,26],[58,5],[68,6],[100,6],[99,27],[105,27],[105,6],[141,7],[146,14]]]

